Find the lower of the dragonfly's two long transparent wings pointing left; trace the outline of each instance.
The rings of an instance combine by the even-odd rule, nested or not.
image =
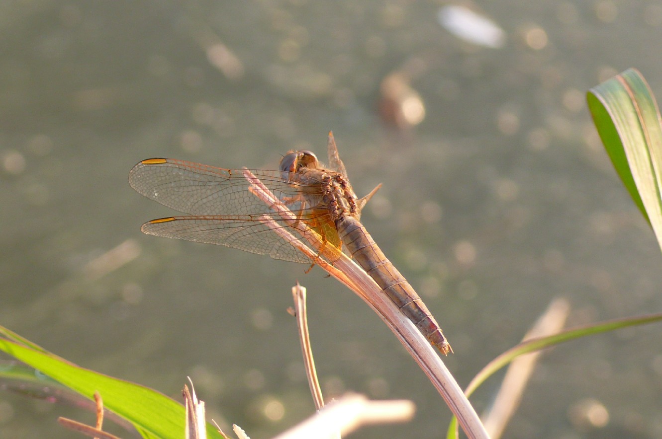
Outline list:
[[[292,227],[274,221],[278,224],[276,227],[296,233]],[[312,263],[310,258],[293,247],[285,237],[275,233],[264,221],[251,217],[176,216],[149,221],[142,225],[141,230],[148,235],[224,245],[269,255],[273,259]]]

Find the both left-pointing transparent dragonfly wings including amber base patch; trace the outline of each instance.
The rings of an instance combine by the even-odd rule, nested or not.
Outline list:
[[[322,241],[340,247],[328,210],[314,208],[321,202],[320,181],[287,171],[250,172],[299,220],[297,227],[305,223]],[[265,223],[266,216],[277,227],[287,227],[299,236],[297,227],[256,196],[242,169],[176,159],[148,159],[131,170],[129,183],[138,193],[191,215],[145,223],[142,231],[148,235],[224,245],[291,262],[311,262]]]

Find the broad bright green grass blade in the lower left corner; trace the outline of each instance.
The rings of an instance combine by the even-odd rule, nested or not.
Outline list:
[[[99,391],[104,407],[131,422],[145,438],[184,437],[184,407],[162,393],[81,368],[22,342],[0,339],[0,350],[86,398]],[[222,436],[207,424],[207,437]]]

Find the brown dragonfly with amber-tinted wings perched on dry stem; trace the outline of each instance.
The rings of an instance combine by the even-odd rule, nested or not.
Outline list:
[[[273,170],[146,159],[131,169],[128,180],[136,192],[187,214],[144,223],[141,230],[148,235],[224,245],[311,267],[323,254],[333,264],[329,255],[334,252],[311,255],[297,245],[314,231],[324,249],[336,255],[346,249],[430,344],[452,352],[422,299],[360,221],[363,206],[381,185],[357,198],[332,133],[328,157],[324,167],[311,151],[289,151]]]

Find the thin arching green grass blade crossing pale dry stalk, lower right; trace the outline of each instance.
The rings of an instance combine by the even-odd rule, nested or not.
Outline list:
[[[570,340],[579,339],[580,337],[586,337],[587,335],[601,334],[609,331],[615,331],[616,329],[622,329],[630,326],[636,325],[645,325],[647,323],[655,323],[662,321],[662,313],[643,315],[640,317],[628,317],[625,319],[616,319],[610,320],[596,325],[590,325],[585,327],[579,327],[575,329],[567,329],[561,333],[550,335],[549,337],[541,337],[539,339],[530,339],[526,340],[514,346],[506,352],[503,352],[494,360],[489,362],[487,366],[481,370],[472,380],[471,383],[467,386],[465,390],[465,395],[467,397],[487,380],[487,378],[493,376],[498,370],[508,365],[512,360],[517,358],[520,355],[529,354],[536,350],[548,348],[559,344],[562,342],[567,342]],[[452,439],[457,437],[457,420],[455,417],[451,420],[448,428],[447,438]]]

